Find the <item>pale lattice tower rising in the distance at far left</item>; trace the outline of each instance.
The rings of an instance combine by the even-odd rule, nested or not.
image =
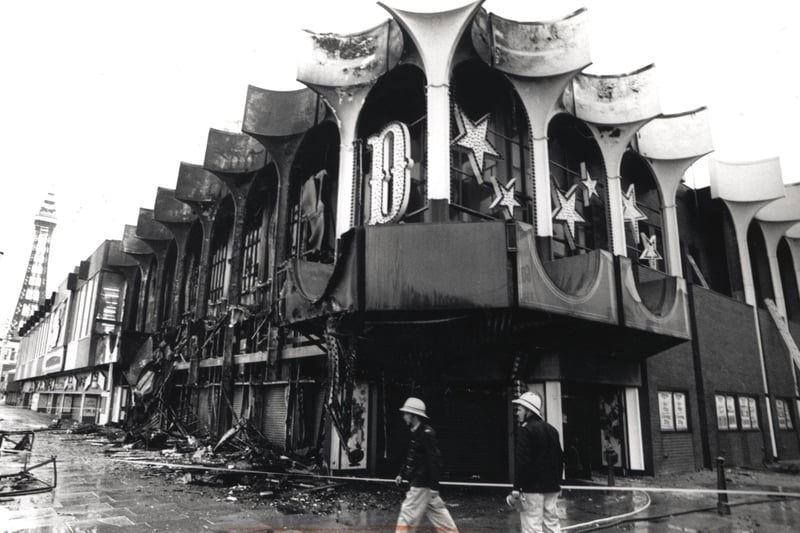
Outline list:
[[[14,316],[6,335],[7,340],[15,340],[19,328],[33,315],[36,308],[46,299],[47,262],[50,258],[50,240],[56,227],[56,203],[53,193],[47,193],[39,214],[33,219],[34,235],[31,254],[25,278],[19,290]]]

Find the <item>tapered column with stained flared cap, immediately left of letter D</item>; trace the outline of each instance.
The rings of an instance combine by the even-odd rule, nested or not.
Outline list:
[[[370,89],[397,64],[402,51],[403,35],[393,21],[349,35],[307,32],[299,49],[297,80],[325,98],[339,125],[337,238],[354,223],[358,116]]]

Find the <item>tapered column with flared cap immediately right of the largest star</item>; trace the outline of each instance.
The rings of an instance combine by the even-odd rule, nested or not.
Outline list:
[[[536,235],[553,235],[547,130],[570,81],[591,63],[585,9],[552,22],[516,22],[481,9],[472,44],[488,65],[506,73],[528,114]]]

